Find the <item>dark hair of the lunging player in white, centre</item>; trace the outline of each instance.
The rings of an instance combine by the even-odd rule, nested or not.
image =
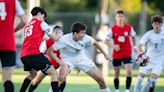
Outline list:
[[[76,33],[79,33],[81,30],[86,30],[87,29],[87,26],[82,23],[82,22],[75,22],[72,24],[72,32],[73,34],[76,32]]]

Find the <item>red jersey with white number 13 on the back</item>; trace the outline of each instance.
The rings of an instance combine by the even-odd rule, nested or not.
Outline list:
[[[24,28],[24,41],[20,57],[40,54],[39,46],[42,42],[44,32],[41,28],[41,20],[33,18]]]

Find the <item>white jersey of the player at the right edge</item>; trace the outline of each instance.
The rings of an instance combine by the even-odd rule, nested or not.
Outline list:
[[[147,44],[146,55],[154,63],[164,60],[164,31],[155,33],[154,30],[148,31],[140,40],[140,43]]]

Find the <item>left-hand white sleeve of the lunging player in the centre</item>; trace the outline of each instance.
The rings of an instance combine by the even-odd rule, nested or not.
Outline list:
[[[66,47],[66,44],[64,43],[64,39],[61,37],[58,41],[55,42],[55,44],[53,44],[53,48],[54,50],[60,50],[62,48]]]

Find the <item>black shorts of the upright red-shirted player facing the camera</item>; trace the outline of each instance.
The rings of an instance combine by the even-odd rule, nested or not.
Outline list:
[[[130,64],[132,63],[132,58],[131,57],[126,57],[126,58],[123,58],[123,59],[113,59],[113,66],[114,67],[117,67],[117,66],[121,66],[122,62],[124,64]]]

